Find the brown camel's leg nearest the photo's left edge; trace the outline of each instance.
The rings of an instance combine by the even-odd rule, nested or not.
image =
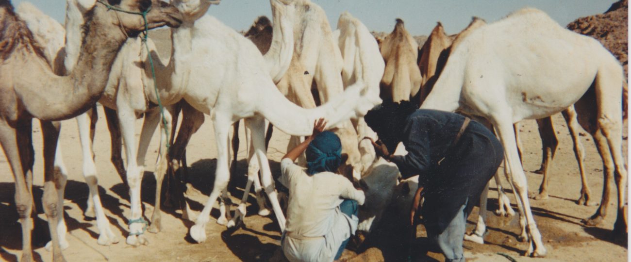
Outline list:
[[[31,121],[28,119],[28,121]],[[28,150],[26,142],[31,133],[24,133],[22,130],[16,131],[11,127],[4,119],[0,119],[0,145],[4,150],[4,155],[11,166],[13,171],[13,179],[15,179],[15,206],[20,217],[20,224],[22,226],[22,256],[20,261],[33,261],[33,251],[31,249],[31,230],[33,230],[33,218],[31,217],[33,211],[33,194],[30,188],[32,182],[28,182],[32,177],[27,177],[25,174],[28,164],[22,162],[25,150]],[[25,141],[21,141],[25,140]],[[23,148],[20,146],[27,146]]]

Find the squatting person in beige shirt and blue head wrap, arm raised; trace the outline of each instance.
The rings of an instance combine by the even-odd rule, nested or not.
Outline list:
[[[357,230],[358,206],[364,194],[346,177],[335,174],[341,164],[341,143],[314,123],[314,132],[281,160],[280,182],[289,188],[287,222],[281,239],[290,261],[339,259]],[[307,169],[293,164],[306,150]]]

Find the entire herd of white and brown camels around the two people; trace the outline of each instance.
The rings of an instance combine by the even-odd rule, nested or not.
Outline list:
[[[219,3],[68,0],[62,27],[31,4],[21,4],[14,11],[9,1],[0,1],[0,143],[15,178],[22,261],[33,259],[33,118],[40,119],[44,136],[42,203],[52,236],[46,247],[52,249],[54,261],[64,261],[62,249],[69,246],[62,215],[68,171],[57,147],[60,124],[56,121],[77,118],[83,176],[90,188],[85,215],[97,218],[98,244],[119,242],[97,190],[91,149],[97,102],[106,109],[112,163],[129,186],[131,213],[126,242],[132,246],[148,244],[146,230],[160,232],[163,177],[167,170],[186,167],[186,145],[204,122],[204,114],[211,116],[215,128],[217,166],[208,201],[189,229],[192,239],[206,240],[205,227],[217,199],[217,222],[237,225],[245,217],[252,184],[259,215],[270,213],[264,191],[283,230],[285,216],[266,156],[266,139],[273,126],[292,135],[288,146],[297,145],[321,117],[327,119],[327,129],[343,142],[341,174],[362,179],[368,190],[377,191],[367,193],[370,198],[360,215],[363,221],[359,229],[370,231],[386,215],[382,213],[385,206],[391,202],[405,206],[403,202],[409,201],[393,197],[399,184],[396,166],[376,158],[370,141],[363,139],[377,139],[363,115],[382,100],[412,100],[423,109],[461,112],[485,122],[497,133],[505,148],[504,171],[519,209],[519,239],[529,241],[529,256],[545,256],[546,249],[530,208],[514,124],[522,119],[541,119],[541,170],[545,177],[534,198],[545,199],[548,167],[558,144],[550,116],[563,112],[581,167],[579,204],[589,203],[584,153],[577,139],[579,125],[592,134],[603,159],[603,198],[598,211],[584,223],[599,225],[603,221],[610,201],[609,182],[614,179],[618,189],[614,232],[626,234],[627,170],[622,155],[621,104],[627,85],[620,63],[597,40],[560,27],[539,10],[522,9],[490,24],[474,18],[463,32],[452,36],[438,23],[419,48],[403,20],[396,20],[394,30],[384,39],[375,39],[361,21],[346,12],[332,30],[324,10],[309,0],[270,0],[271,21],[257,18],[244,37],[206,14],[211,5]],[[168,61],[158,56],[150,39],[144,42],[135,37],[145,28],[143,16],[148,28],[172,27]],[[28,70],[22,70],[25,68]],[[165,110],[161,112],[158,104]],[[176,132],[180,112],[182,123]],[[144,124],[136,141],[134,121],[141,116]],[[225,204],[231,176],[228,143],[234,129],[236,160],[236,130],[241,119],[249,148],[248,179],[246,193],[232,215],[230,205]],[[140,182],[149,142],[158,126],[156,206],[149,223],[141,209]],[[121,141],[126,165],[122,163]],[[404,148],[399,151],[404,152]],[[500,176],[496,174],[495,179],[500,202],[497,213],[512,215]],[[415,190],[408,188],[406,192],[410,191]],[[486,195],[481,198],[481,208],[486,210]],[[192,219],[186,201],[180,208],[182,218]],[[484,217],[478,218],[468,239],[483,242]]]

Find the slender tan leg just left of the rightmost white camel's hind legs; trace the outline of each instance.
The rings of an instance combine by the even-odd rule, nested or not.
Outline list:
[[[574,142],[574,155],[576,156],[576,162],[579,163],[579,172],[581,172],[581,196],[576,201],[576,203],[586,206],[597,205],[597,203],[589,201],[591,191],[589,190],[589,186],[587,185],[587,176],[585,174],[585,166],[583,162],[583,160],[585,159],[585,148],[583,148],[583,144],[579,139],[580,128],[574,105],[568,107],[568,109],[563,110],[562,114],[563,118],[565,118],[565,122],[567,122],[567,129],[569,129],[570,131],[572,142]]]

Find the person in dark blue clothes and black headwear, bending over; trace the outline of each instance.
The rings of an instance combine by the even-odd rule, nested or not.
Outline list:
[[[420,214],[430,241],[446,261],[464,261],[466,220],[504,159],[500,142],[467,117],[416,109],[406,101],[379,105],[364,119],[379,136],[374,143],[377,155],[396,164],[404,178],[419,175],[425,198]],[[407,155],[389,153],[399,142]]]

